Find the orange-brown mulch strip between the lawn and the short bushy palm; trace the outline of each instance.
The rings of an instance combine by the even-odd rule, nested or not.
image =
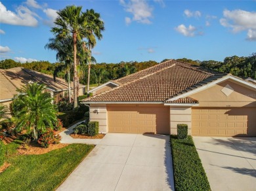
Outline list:
[[[27,148],[24,148],[23,145],[20,145],[17,150],[19,154],[45,154],[47,152],[50,152],[51,150],[67,147],[68,145],[69,144],[59,143],[56,145],[50,145],[48,148],[43,148],[38,143],[32,142],[30,143],[30,145],[28,145]]]

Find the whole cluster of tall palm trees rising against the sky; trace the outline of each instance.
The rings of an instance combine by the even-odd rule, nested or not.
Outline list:
[[[54,76],[58,71],[66,71],[66,79],[69,84],[71,74],[74,83],[74,107],[77,107],[77,97],[79,94],[79,73],[87,70],[87,91],[89,91],[91,63],[95,59],[91,56],[91,50],[96,45],[96,39],[102,39],[102,31],[104,31],[104,22],[100,19],[100,14],[90,9],[82,12],[82,7],[75,5],[67,6],[57,12],[58,17],[51,29],[54,38],[49,39],[49,43],[45,48],[56,50],[56,59],[63,61],[64,65],[60,65],[54,71]],[[86,66],[88,65],[87,69]],[[71,73],[72,70],[72,73]],[[71,100],[71,98],[70,98]]]

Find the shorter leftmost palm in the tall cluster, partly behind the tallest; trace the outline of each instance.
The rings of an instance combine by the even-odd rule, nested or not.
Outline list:
[[[56,60],[64,61],[64,65],[58,65],[54,69],[53,78],[56,80],[56,76],[60,71],[65,71],[66,81],[68,82],[68,101],[71,103],[71,87],[70,87],[70,69],[72,69],[72,60],[73,60],[73,39],[71,37],[67,38],[51,38],[49,43],[45,45],[45,48],[56,50]]]

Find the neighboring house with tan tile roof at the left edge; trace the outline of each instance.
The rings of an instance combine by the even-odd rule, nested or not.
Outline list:
[[[68,92],[68,83],[62,78],[56,78],[54,82],[51,75],[23,67],[0,69],[0,103],[9,106],[14,95],[18,94],[17,88],[33,82],[45,84],[47,91],[51,93],[56,102],[64,96],[65,92]],[[80,84],[79,88],[79,96],[82,96],[85,93],[85,86]]]

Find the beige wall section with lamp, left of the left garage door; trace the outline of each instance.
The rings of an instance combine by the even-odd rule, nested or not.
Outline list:
[[[98,113],[96,112],[98,110]],[[99,133],[108,133],[108,113],[106,105],[90,105],[90,121],[98,122]]]

